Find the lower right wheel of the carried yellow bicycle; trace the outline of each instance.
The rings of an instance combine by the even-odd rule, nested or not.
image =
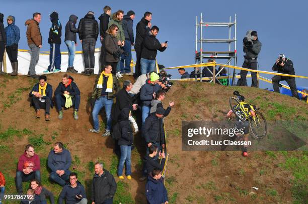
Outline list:
[[[255,138],[261,139],[265,137],[267,133],[267,123],[262,113],[256,111],[255,120],[249,120],[249,128]]]

